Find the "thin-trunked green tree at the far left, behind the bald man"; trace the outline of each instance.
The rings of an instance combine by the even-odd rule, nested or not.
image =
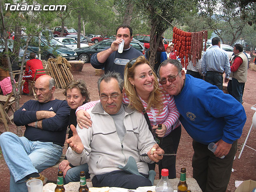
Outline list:
[[[23,66],[25,64],[25,56],[28,48],[28,43],[32,39],[33,36],[38,36],[40,32],[47,26],[54,18],[55,12],[50,11],[10,11],[6,10],[5,3],[8,2],[10,4],[17,5],[18,2],[13,1],[1,1],[0,2],[0,17],[1,17],[1,34],[4,39],[4,45],[6,51],[8,51],[8,44],[7,44],[7,38],[8,34],[7,32],[16,32],[15,38],[14,38],[14,48],[13,53],[8,52],[7,54],[7,61],[8,61],[8,70],[12,82],[12,89],[14,92],[15,97],[15,109],[17,110],[19,105],[19,94],[21,89],[21,82],[22,82],[22,71]],[[28,1],[24,4],[30,4],[32,5],[34,2]],[[24,28],[24,32],[28,36],[27,41],[22,41],[21,38],[21,28]],[[18,80],[18,89],[15,89],[14,86],[14,76],[12,72],[12,63],[10,62],[10,56],[14,57],[14,62],[17,62],[18,60],[18,54],[20,48],[24,49],[24,56],[22,58],[22,62],[20,64],[20,78]],[[17,134],[18,136],[22,135],[21,127],[17,127]]]

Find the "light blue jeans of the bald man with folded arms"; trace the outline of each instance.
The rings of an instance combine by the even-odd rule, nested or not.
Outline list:
[[[10,192],[27,192],[26,176],[54,166],[62,154],[59,145],[30,141],[11,132],[0,135],[0,146],[10,170]]]

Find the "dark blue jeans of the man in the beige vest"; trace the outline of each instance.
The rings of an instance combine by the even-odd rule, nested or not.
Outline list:
[[[243,92],[244,92],[244,84],[245,83],[240,83],[238,82],[237,79],[232,78],[232,80],[229,80],[228,82],[228,93],[232,95],[238,102],[242,104],[242,97],[243,97]]]

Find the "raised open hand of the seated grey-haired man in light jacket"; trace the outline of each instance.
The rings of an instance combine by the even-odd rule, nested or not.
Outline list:
[[[84,150],[84,145],[81,138],[79,137],[74,125],[70,125],[70,129],[73,132],[73,136],[66,140],[69,146],[78,154],[81,154]]]

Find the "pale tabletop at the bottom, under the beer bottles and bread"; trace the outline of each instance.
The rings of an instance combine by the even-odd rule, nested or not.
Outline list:
[[[174,190],[177,190],[178,182],[180,181],[179,178],[176,179],[170,179],[170,182],[172,183],[172,186]],[[154,180],[154,186],[159,182],[159,180]],[[186,182],[188,184],[188,190],[191,190],[192,192],[202,192],[200,187],[198,186],[196,180],[194,178],[186,178]],[[65,187],[65,192],[77,192],[78,188],[80,186],[80,182],[70,182]],[[92,182],[87,182],[88,187],[92,187]],[[56,187],[56,184],[54,183],[47,183],[43,187],[43,192],[54,192],[54,189]]]

